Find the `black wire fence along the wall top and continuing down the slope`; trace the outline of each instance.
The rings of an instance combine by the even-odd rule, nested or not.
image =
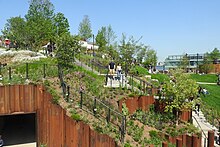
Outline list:
[[[105,69],[96,64],[97,69]],[[79,104],[81,109],[91,112],[95,117],[105,119],[118,127],[118,133],[121,134],[120,140],[124,141],[126,120],[125,116],[113,109],[110,103],[101,101],[92,96],[89,92],[70,87],[65,82],[65,75],[62,67],[55,64],[24,63],[19,65],[6,65],[0,63],[0,82],[23,84],[26,80],[39,81],[45,78],[58,77],[62,88],[63,98],[67,102],[74,101]],[[73,95],[71,96],[71,93]],[[75,95],[75,96],[74,96]]]

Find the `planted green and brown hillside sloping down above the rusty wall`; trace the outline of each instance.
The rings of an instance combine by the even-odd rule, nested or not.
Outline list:
[[[171,114],[137,111],[129,115],[126,113],[126,107],[123,108],[123,113],[120,112],[118,107],[120,99],[140,93],[122,87],[105,88],[106,78],[94,72],[100,66],[92,62],[84,61],[88,66],[93,67],[92,71],[73,64],[71,68],[63,68],[60,73],[54,58],[43,57],[37,60],[14,62],[12,60],[14,56],[10,55],[7,60],[5,57],[8,55],[0,58],[1,62],[7,63],[7,66],[1,68],[3,76],[1,84],[44,84],[53,95],[53,102],[67,110],[69,116],[86,122],[100,133],[108,134],[121,146],[159,145],[164,141],[160,133],[178,135],[184,130],[189,132],[191,129],[191,133],[197,130],[188,123],[182,123],[178,129],[174,129],[172,123],[174,118]],[[11,76],[8,75],[9,69]],[[162,75],[158,77],[166,78]],[[138,86],[137,83],[135,85]],[[124,113],[127,115],[126,123]],[[179,129],[182,131],[178,132]]]

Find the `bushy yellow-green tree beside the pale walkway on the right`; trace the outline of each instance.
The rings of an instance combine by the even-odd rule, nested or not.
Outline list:
[[[170,71],[172,81],[167,81],[164,84],[165,110],[176,112],[177,124],[179,112],[192,108],[193,99],[197,98],[198,85],[195,80],[189,77],[189,74],[183,73],[182,69]]]

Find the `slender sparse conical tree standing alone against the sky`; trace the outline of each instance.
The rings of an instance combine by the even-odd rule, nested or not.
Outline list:
[[[85,15],[82,22],[80,22],[78,35],[86,41],[92,37],[91,23],[88,15]]]

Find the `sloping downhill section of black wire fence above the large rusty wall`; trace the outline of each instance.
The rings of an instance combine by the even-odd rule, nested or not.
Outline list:
[[[65,82],[65,77],[62,68],[58,66],[58,74],[61,82],[64,99],[67,102],[72,102],[79,105],[82,110],[89,111],[97,118],[105,119],[107,123],[111,123],[118,127],[118,134],[120,134],[121,142],[124,142],[126,118],[125,116],[115,110],[109,102],[100,100],[98,97],[92,96],[85,91],[83,87],[70,87]]]

